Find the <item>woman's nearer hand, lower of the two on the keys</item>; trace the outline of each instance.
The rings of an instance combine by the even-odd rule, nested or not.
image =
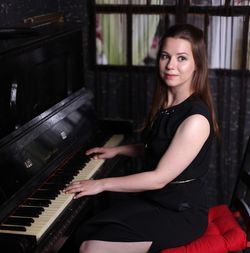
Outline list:
[[[100,180],[74,181],[63,190],[64,193],[75,194],[74,199],[87,195],[95,195],[102,191],[103,189]]]

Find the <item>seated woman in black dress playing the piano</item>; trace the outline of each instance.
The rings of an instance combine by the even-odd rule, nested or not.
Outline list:
[[[81,253],[145,253],[187,244],[207,226],[203,177],[218,132],[203,33],[175,25],[161,40],[159,81],[143,144],[87,151],[96,159],[144,157],[144,171],[71,183],[75,198],[103,191],[138,192],[94,217],[77,231]]]

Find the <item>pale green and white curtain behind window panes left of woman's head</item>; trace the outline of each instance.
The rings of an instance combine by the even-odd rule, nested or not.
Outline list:
[[[160,15],[133,15],[132,63],[144,65],[144,59],[155,57]],[[99,14],[96,18],[96,57],[98,64],[127,64],[126,14]]]

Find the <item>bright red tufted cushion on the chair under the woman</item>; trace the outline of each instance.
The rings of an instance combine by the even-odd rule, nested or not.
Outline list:
[[[160,253],[227,253],[246,248],[246,233],[236,221],[228,206],[211,207],[205,233],[193,242]]]

